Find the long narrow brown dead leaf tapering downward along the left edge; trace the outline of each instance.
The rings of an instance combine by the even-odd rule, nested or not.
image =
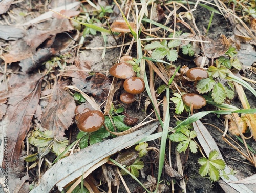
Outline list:
[[[32,117],[36,111],[41,93],[41,83],[38,83],[33,92],[29,93],[16,106],[9,105],[7,116],[9,128],[6,131],[8,136],[8,149],[10,155],[10,166],[17,165],[22,142],[30,128]]]

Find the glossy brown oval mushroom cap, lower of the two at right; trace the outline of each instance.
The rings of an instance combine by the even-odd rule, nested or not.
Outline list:
[[[193,109],[201,109],[206,105],[205,98],[195,93],[184,94],[182,95],[181,99],[186,106],[193,104]]]

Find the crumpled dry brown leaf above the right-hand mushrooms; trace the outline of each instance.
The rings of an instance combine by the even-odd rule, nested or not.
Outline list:
[[[211,44],[204,44],[205,55],[208,58],[218,58],[229,49],[230,42],[225,35],[221,35],[217,40],[209,38],[204,38],[204,40],[211,41]]]

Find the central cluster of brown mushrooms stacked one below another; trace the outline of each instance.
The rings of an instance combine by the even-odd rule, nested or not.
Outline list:
[[[110,74],[116,78],[125,79],[123,88],[126,92],[120,95],[120,100],[125,104],[131,104],[135,101],[136,94],[140,94],[145,89],[143,79],[136,77],[133,66],[126,61],[133,60],[131,56],[123,56],[120,63],[116,63],[110,68]]]

